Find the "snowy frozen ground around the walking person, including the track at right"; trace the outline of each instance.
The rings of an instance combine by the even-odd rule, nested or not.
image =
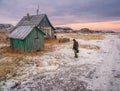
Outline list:
[[[28,56],[26,59],[42,61],[42,67],[27,65],[24,79],[1,82],[0,88],[5,91],[120,91],[120,38],[106,35],[104,40],[77,40],[79,44],[97,45],[100,50],[79,48],[79,58],[74,58],[70,42],[43,56]]]

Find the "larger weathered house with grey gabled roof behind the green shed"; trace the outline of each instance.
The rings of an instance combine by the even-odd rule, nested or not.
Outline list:
[[[54,38],[54,27],[50,23],[46,14],[40,15],[29,15],[24,16],[20,22],[16,25],[18,26],[37,26],[40,30],[42,30],[46,35],[45,38],[52,39]]]

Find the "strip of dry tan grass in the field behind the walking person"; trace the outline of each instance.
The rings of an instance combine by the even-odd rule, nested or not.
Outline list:
[[[66,36],[75,38],[75,39],[84,39],[84,40],[103,40],[105,38],[105,34],[76,34],[69,33]]]

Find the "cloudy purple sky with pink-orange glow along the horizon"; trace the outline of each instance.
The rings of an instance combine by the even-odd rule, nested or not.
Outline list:
[[[55,27],[120,31],[120,0],[0,0],[0,23],[16,25],[38,5]]]

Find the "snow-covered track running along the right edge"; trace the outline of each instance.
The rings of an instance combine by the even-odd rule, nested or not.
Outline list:
[[[96,68],[92,86],[94,90],[119,91],[120,90],[120,39],[108,36],[107,46],[102,54],[103,62]],[[108,46],[109,45],[109,46]],[[116,77],[119,75],[119,77]]]

